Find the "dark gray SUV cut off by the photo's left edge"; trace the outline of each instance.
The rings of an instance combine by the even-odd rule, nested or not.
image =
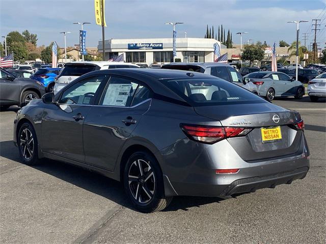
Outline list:
[[[16,77],[0,68],[0,109],[5,110],[12,105],[25,106],[33,99],[45,93],[41,82],[30,78]]]

